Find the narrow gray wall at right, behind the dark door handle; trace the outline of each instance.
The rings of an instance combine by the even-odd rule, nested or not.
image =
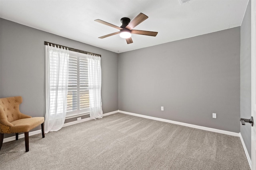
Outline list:
[[[241,118],[251,117],[251,1],[248,2],[241,25],[240,50],[240,113]],[[240,124],[240,132],[251,156],[251,126]]]

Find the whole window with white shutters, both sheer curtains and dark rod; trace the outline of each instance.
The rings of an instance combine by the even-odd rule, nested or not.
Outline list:
[[[85,114],[90,114],[90,119],[102,118],[101,56],[50,42],[44,44],[46,133],[60,130],[67,118]]]

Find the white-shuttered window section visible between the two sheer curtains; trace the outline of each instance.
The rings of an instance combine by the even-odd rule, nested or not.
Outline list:
[[[87,54],[70,51],[66,117],[87,113],[89,109]]]

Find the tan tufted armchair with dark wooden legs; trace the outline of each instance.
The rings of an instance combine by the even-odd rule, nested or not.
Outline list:
[[[41,124],[44,138],[44,117],[31,117],[20,112],[22,97],[0,98],[0,149],[2,148],[4,134],[18,134],[24,132],[26,152],[29,151],[28,132]]]

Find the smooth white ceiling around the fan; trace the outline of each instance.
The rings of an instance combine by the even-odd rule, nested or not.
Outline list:
[[[191,0],[185,4],[180,0],[0,0],[0,17],[120,53],[241,26],[247,3],[248,0]],[[156,37],[132,34],[132,44],[126,44],[118,34],[98,38],[118,30],[94,20],[121,26],[122,17],[132,20],[140,12],[149,18],[134,29],[158,32]]]

